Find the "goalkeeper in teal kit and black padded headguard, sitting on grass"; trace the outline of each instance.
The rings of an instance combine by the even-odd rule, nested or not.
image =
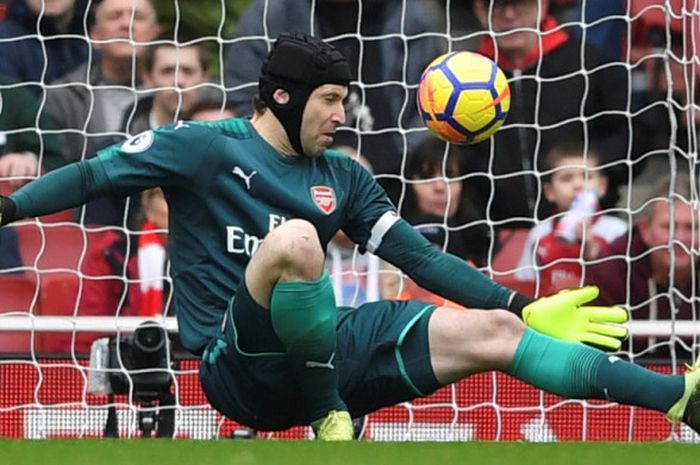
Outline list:
[[[700,431],[700,370],[660,375],[583,344],[617,349],[626,336],[624,310],[585,306],[595,288],[532,301],[502,287],[433,247],[358,163],[328,150],[349,81],[332,46],[281,35],[252,120],[144,132],[0,198],[0,224],[162,187],[181,341],[202,357],[212,406],[256,429],[311,424],[320,439],[347,440],[352,416],[500,370]],[[339,229],[422,287],[496,310],[336,308],[323,266]]]

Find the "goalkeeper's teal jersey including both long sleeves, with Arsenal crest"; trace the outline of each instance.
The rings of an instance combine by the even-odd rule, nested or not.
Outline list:
[[[179,122],[68,165],[11,198],[18,217],[81,205],[103,195],[162,187],[180,339],[195,354],[221,320],[263,238],[292,218],[310,221],[324,248],[342,229],[419,285],[480,308],[507,308],[511,291],[442,253],[401,220],[357,162],[333,150],[285,157],[245,119]]]

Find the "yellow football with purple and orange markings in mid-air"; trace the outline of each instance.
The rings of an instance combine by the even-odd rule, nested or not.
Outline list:
[[[501,127],[510,109],[508,80],[489,58],[446,53],[423,71],[418,111],[434,134],[453,144],[476,144]]]

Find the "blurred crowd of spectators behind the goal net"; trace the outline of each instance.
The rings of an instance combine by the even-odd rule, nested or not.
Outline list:
[[[150,0],[0,1],[0,192],[152,128],[250,116],[270,38],[311,32],[354,72],[336,148],[436,247],[533,296],[591,283],[632,320],[697,318],[700,44],[683,31],[700,25],[681,2],[247,3],[233,35],[217,37],[216,24],[165,24]],[[667,16],[664,3],[678,10]],[[452,50],[489,56],[511,86],[505,125],[475,146],[429,135],[415,110],[422,70]],[[61,220],[113,227],[81,271],[117,279],[88,280],[72,313],[176,311],[161,192],[115,195]],[[24,255],[21,231],[0,230],[0,278],[26,271]],[[455,305],[342,233],[328,262],[339,305]],[[689,356],[692,343],[633,336],[626,349],[667,358]]]

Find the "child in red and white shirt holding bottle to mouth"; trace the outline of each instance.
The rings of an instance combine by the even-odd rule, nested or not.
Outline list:
[[[604,255],[610,243],[627,231],[627,224],[596,208],[608,180],[601,174],[595,151],[584,151],[580,143],[562,142],[547,153],[545,168],[542,191],[556,215],[530,230],[516,277],[535,280],[539,274],[540,293],[549,295],[579,287],[581,260]],[[587,205],[581,202],[593,211],[583,211]]]

